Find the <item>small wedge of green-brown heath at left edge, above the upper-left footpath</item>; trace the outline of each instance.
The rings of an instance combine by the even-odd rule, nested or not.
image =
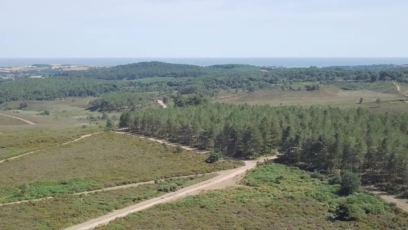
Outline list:
[[[17,119],[14,119],[17,120]],[[17,120],[19,121],[19,120]],[[97,126],[57,128],[26,128],[2,132],[0,138],[0,160],[15,157],[19,154],[41,150],[68,141],[73,141],[84,134],[98,132]]]

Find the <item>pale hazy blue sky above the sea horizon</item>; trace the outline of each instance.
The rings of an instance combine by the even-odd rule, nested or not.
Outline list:
[[[407,0],[4,0],[0,57],[407,57]]]

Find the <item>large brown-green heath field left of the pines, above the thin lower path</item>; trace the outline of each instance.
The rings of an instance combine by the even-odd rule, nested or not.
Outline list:
[[[0,167],[0,202],[236,168],[239,161],[205,163],[207,156],[133,136],[105,132],[41,150]]]

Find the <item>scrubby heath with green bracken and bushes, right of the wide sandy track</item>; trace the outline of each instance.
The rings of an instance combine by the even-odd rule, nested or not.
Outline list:
[[[201,193],[127,215],[98,229],[406,229],[408,214],[364,193],[279,164],[258,166],[245,187]],[[340,206],[351,219],[340,220]]]

